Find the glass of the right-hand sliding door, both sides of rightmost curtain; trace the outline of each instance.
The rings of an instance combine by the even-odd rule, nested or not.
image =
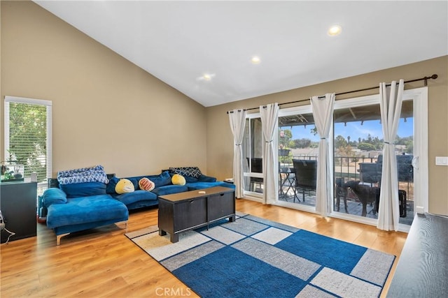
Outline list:
[[[405,224],[414,211],[413,125],[412,100],[403,101],[395,154]],[[377,219],[384,144],[379,103],[335,110],[334,136],[334,211]]]

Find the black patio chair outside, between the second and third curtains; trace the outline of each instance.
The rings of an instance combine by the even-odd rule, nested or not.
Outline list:
[[[302,191],[302,200],[305,201],[305,191],[316,191],[317,161],[307,161],[304,159],[293,159],[295,170],[295,188]]]

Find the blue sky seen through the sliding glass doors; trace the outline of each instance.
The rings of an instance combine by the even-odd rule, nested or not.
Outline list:
[[[400,119],[400,123],[398,124],[398,136],[409,137],[414,135],[413,126],[414,118],[407,118],[406,122],[404,119]],[[293,140],[309,138],[313,142],[318,142],[320,139],[317,135],[311,133],[311,129],[314,128],[314,125],[307,125],[307,128],[304,128],[304,126],[293,126],[292,130],[290,126],[285,126],[283,128],[293,132]],[[343,123],[335,124],[335,136],[342,135],[345,139],[350,136],[351,141],[358,141],[359,137],[361,139],[367,139],[369,134],[372,135],[372,137],[379,137],[379,139],[383,138],[383,131],[378,120],[364,121],[363,125],[360,125],[360,121],[347,122],[346,126],[344,126]]]

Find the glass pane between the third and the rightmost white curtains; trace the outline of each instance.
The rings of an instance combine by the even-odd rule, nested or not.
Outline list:
[[[382,135],[379,103],[335,110],[335,211],[377,218]]]

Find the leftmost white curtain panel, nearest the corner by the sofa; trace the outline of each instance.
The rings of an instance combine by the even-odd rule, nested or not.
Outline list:
[[[233,134],[233,183],[235,184],[235,196],[243,198],[243,149],[244,126],[246,124],[246,110],[233,110],[229,112],[230,128]]]

